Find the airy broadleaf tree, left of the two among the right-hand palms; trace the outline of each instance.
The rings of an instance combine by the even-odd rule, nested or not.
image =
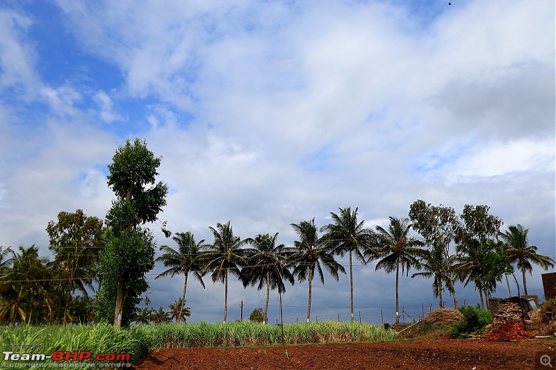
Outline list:
[[[450,244],[461,229],[461,222],[455,210],[444,205],[431,205],[418,199],[409,206],[409,219],[412,222],[411,227],[420,235],[423,245],[430,250],[425,258],[427,263],[431,263],[429,267],[436,271],[433,284],[445,283],[445,285],[443,283],[433,287],[433,291],[441,297],[443,286],[448,288],[448,292],[454,298],[454,307],[457,308],[457,296],[454,288],[457,276],[455,270],[450,267]],[[427,275],[414,274],[414,276]],[[443,305],[442,299],[440,305]]]

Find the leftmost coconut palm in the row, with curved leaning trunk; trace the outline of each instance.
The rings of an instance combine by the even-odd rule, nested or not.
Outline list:
[[[187,289],[187,279],[190,272],[193,272],[193,276],[201,283],[202,287],[204,287],[203,276],[201,274],[201,270],[203,267],[202,264],[202,244],[204,243],[204,239],[202,239],[199,243],[195,243],[195,237],[193,237],[193,233],[189,231],[186,233],[176,233],[176,236],[172,237],[174,242],[178,244],[178,250],[173,249],[170,246],[163,245],[161,246],[161,251],[165,253],[160,257],[156,258],[155,262],[164,262],[164,267],[170,267],[166,271],[163,271],[161,274],[156,276],[155,279],[158,279],[162,276],[173,277],[175,275],[183,274],[185,276],[185,280],[183,280],[183,294],[181,294],[181,303],[182,307],[179,309],[180,312],[177,315],[177,323],[182,317],[183,310],[183,303],[186,301],[186,289]]]

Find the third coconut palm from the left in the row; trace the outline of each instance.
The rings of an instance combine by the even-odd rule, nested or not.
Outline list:
[[[286,248],[284,244],[276,245],[278,233],[273,237],[269,234],[259,234],[254,239],[247,238],[245,242],[254,246],[252,250],[245,250],[246,253],[252,253],[247,260],[247,267],[242,270],[243,286],[255,285],[257,290],[266,286],[266,302],[265,311],[263,313],[263,323],[268,322],[268,300],[270,298],[270,289],[279,289],[279,292],[286,292],[284,279],[288,280],[291,285],[295,283],[293,275],[285,267],[285,262],[293,254],[293,249]]]

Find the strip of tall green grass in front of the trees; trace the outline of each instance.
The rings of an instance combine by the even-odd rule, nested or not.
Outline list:
[[[118,329],[112,325],[93,326],[17,326],[0,328],[2,351],[6,346],[24,344],[33,348],[10,349],[14,353],[45,353],[54,351],[89,351],[97,353],[129,353],[131,360],[156,348],[201,348],[234,346],[269,346],[276,344],[314,344],[330,342],[393,342],[394,330],[385,330],[366,323],[321,321],[270,326],[254,321],[233,323],[167,323],[132,326]],[[75,361],[74,361],[75,362]],[[49,369],[51,362],[32,365],[28,369]],[[91,366],[95,362],[88,362]],[[0,357],[0,369],[8,367]],[[54,368],[54,367],[52,367]]]

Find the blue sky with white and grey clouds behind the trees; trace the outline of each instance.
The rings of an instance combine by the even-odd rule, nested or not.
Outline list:
[[[149,225],[158,246],[176,246],[163,221],[211,242],[208,226],[230,220],[242,238],[293,246],[292,223],[357,207],[365,226],[386,227],[423,199],[458,214],[489,205],[502,231],[523,225],[556,259],[555,3],[451,3],[1,1],[0,244],[51,257],[58,212],[104,219],[106,165],[140,137],[169,186]],[[393,323],[395,276],[375,263],[354,267],[354,311]],[[163,270],[147,275],[155,308],[183,288],[155,279]],[[414,272],[400,278],[411,317],[438,304]],[[527,280],[541,298],[543,272]],[[349,317],[349,280],[314,282],[312,319]],[[224,286],[205,283],[190,279],[189,321],[222,320]],[[286,287],[285,322],[304,319],[307,295],[306,282]],[[471,285],[457,296],[479,301]],[[264,298],[232,278],[228,321]]]

